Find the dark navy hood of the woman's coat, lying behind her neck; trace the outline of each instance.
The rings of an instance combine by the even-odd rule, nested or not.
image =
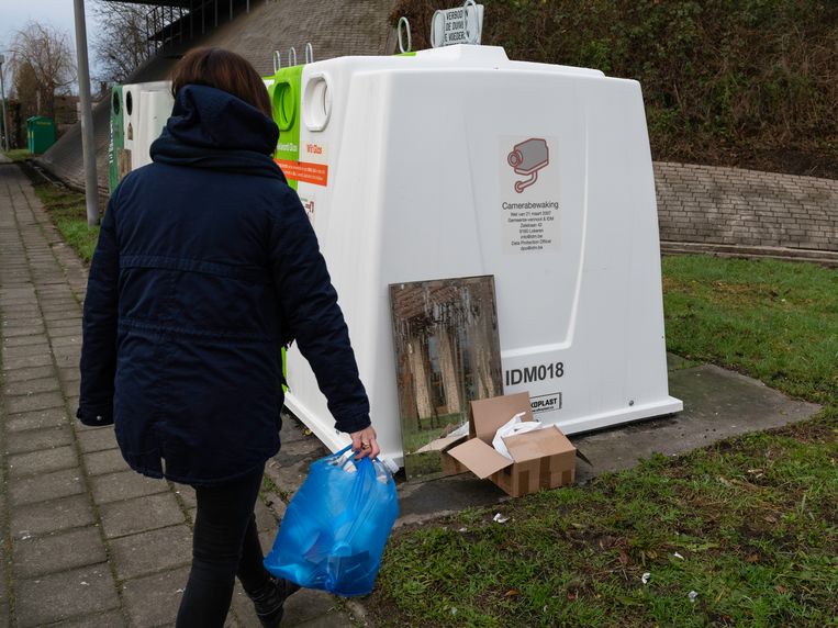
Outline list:
[[[171,116],[150,148],[152,159],[172,166],[277,177],[271,155],[276,123],[235,96],[201,85],[178,90]]]

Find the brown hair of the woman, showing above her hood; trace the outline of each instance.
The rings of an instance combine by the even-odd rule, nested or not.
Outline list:
[[[171,72],[171,96],[186,85],[205,85],[232,93],[271,117],[268,90],[247,59],[223,48],[195,48]]]

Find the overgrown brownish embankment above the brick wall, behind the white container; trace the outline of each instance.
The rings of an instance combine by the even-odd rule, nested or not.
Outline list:
[[[434,9],[401,0],[413,47]],[[838,2],[483,0],[510,58],[640,81],[659,161],[838,178]]]

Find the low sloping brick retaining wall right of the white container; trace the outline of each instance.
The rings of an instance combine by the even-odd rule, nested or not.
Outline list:
[[[660,239],[838,251],[838,181],[655,164]]]

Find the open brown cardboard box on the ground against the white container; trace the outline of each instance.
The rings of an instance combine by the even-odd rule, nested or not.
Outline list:
[[[447,457],[448,468],[466,468],[513,497],[573,482],[577,449],[556,426],[504,438],[513,460],[492,447],[498,428],[518,413],[534,420],[526,392],[472,401],[469,437],[443,451],[444,466]]]

